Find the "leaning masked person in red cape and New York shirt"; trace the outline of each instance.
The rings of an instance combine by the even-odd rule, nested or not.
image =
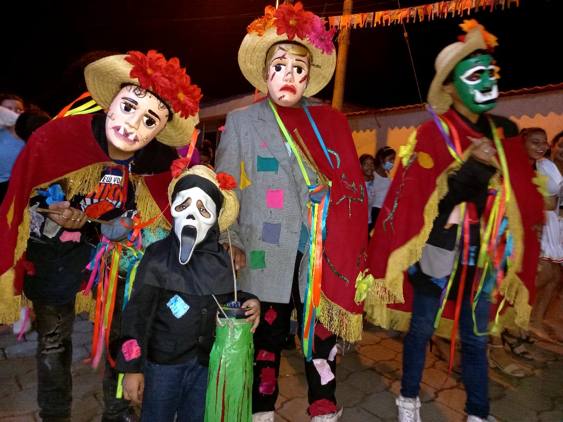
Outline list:
[[[105,356],[102,421],[136,421],[115,397],[124,291],[145,247],[171,229],[170,165],[193,138],[201,94],[178,59],[155,50],[104,57],[84,77],[106,113],[43,125],[14,166],[0,208],[0,318],[33,302],[39,416],[69,421],[73,322],[90,312],[92,366]]]

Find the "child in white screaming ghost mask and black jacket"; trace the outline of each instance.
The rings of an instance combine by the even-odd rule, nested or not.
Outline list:
[[[219,234],[238,214],[236,182],[203,165],[186,169],[187,164],[186,159],[172,164],[175,178],[168,188],[172,232],[146,249],[121,323],[115,368],[125,374],[123,396],[133,402],[142,399],[141,421],[146,422],[173,422],[176,414],[179,422],[204,420],[218,304],[235,297],[233,264],[219,244]],[[254,295],[238,293],[242,307],[249,308],[246,322],[254,323],[250,329],[254,332],[260,302]],[[225,359],[222,365],[228,363]],[[251,366],[249,360],[248,371]],[[209,381],[215,386],[216,374],[210,373]],[[229,381],[244,383],[244,378]],[[221,390],[223,383],[217,387]],[[241,418],[242,401],[224,403],[221,394],[218,398],[213,407],[231,415],[225,420],[250,420],[249,406],[247,419]]]

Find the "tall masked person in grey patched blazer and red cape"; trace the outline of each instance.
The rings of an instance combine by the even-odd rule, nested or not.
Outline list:
[[[336,67],[334,30],[283,4],[248,26],[244,77],[267,98],[227,115],[215,169],[238,182],[240,218],[230,227],[243,290],[257,295],[254,421],[273,421],[280,353],[297,310],[309,415],[335,421],[336,340],[362,335],[355,282],[364,270],[368,196],[346,116],[313,106]],[[226,234],[222,243],[226,244]]]

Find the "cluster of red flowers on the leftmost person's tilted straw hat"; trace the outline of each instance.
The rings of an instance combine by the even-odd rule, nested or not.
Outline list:
[[[141,88],[150,88],[167,100],[181,118],[187,119],[198,112],[201,89],[190,83],[190,77],[185,68],[180,68],[177,57],[167,61],[156,50],[150,50],[146,56],[139,51],[129,51],[124,60],[133,65],[129,76],[137,79]]]

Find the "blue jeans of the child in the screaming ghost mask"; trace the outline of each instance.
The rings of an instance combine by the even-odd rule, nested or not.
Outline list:
[[[181,365],[146,361],[141,422],[202,422],[208,368],[194,357]]]

